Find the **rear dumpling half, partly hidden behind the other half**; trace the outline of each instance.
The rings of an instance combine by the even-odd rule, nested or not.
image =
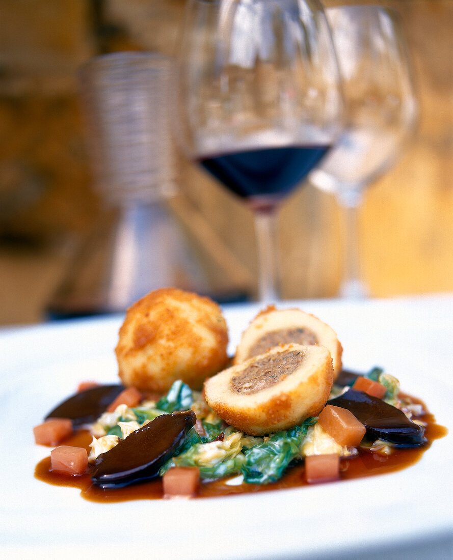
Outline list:
[[[332,356],[334,379],[338,377],[343,348],[334,329],[300,309],[278,310],[269,306],[261,311],[243,332],[233,363],[242,363],[274,346],[289,343],[325,346]]]

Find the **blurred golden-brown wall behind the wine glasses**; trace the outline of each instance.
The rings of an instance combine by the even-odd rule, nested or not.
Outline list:
[[[0,325],[43,319],[73,249],[99,218],[78,68],[93,55],[121,50],[173,55],[184,3],[0,0]],[[345,3],[351,2],[324,2]],[[453,2],[367,3],[401,13],[420,122],[404,157],[366,194],[360,215],[363,274],[377,297],[452,291]],[[251,214],[183,160],[179,185],[175,219],[192,216],[183,225],[210,282],[239,282],[253,296]],[[340,239],[330,195],[305,185],[284,202],[279,242],[286,298],[335,295]],[[219,254],[230,255],[233,265],[219,266]]]

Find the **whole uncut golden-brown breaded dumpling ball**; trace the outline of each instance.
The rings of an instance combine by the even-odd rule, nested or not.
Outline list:
[[[228,363],[228,329],[210,298],[177,288],[149,293],[127,310],[119,329],[119,377],[142,391],[167,391],[182,379],[200,389]]]

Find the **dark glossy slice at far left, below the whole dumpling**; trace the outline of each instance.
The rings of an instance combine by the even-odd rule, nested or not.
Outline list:
[[[107,410],[109,404],[124,390],[123,385],[99,385],[80,391],[64,400],[45,417],[69,418],[75,427],[91,424]]]

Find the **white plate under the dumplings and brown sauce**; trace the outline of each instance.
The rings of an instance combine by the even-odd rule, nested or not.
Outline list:
[[[3,557],[453,557],[453,297],[282,304],[293,305],[336,330],[345,367],[383,366],[427,403],[449,435],[410,468],[366,479],[193,501],[87,502],[77,489],[34,478],[49,450],[34,444],[32,430],[79,381],[116,381],[113,348],[122,318],[3,330]],[[225,308],[232,349],[256,310]]]

